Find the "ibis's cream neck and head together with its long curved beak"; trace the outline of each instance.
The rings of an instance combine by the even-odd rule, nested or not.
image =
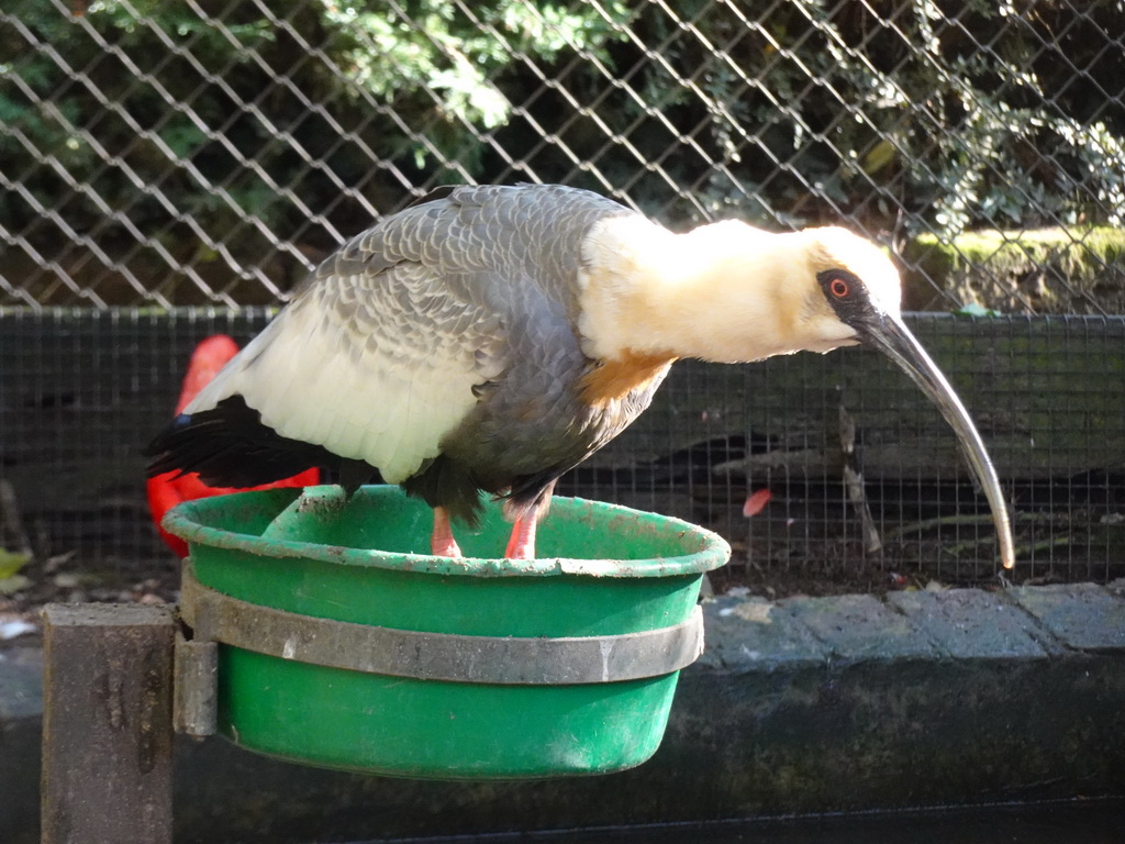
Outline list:
[[[992,509],[1000,558],[1012,567],[1008,510],[984,442],[902,322],[900,277],[879,246],[836,226],[774,234],[734,221],[668,236],[627,218],[598,234],[590,263],[611,280],[591,278],[584,313],[587,336],[614,338],[600,353],[667,348],[673,357],[737,362],[842,345],[878,349],[953,428]]]

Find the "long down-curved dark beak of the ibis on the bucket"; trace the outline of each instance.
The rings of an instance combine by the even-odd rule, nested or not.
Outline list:
[[[1000,490],[1000,481],[997,478],[992,460],[984,450],[984,442],[981,440],[976,427],[969,417],[969,412],[961,404],[957,394],[942,375],[942,370],[930,359],[926,350],[910,333],[898,317],[881,314],[878,321],[864,323],[861,331],[864,340],[881,349],[891,360],[898,363],[910,379],[917,384],[938,410],[945,416],[961,441],[961,449],[969,460],[976,478],[980,481],[984,495],[992,508],[992,520],[996,522],[996,532],[1000,538],[1000,559],[1005,568],[1011,568],[1016,564],[1016,549],[1011,539],[1011,521],[1008,518],[1008,505],[1004,500],[1004,492]]]

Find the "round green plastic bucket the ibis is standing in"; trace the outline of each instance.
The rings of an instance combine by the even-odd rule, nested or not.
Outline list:
[[[580,646],[608,663],[614,643],[628,656],[650,636],[656,650],[669,648],[658,637],[698,621],[702,575],[730,555],[720,537],[676,519],[556,497],[538,559],[495,556],[511,526],[490,502],[478,530],[458,532],[465,558],[433,557],[431,510],[389,486],[364,487],[346,504],[330,486],[217,496],[176,508],[164,526],[188,542],[192,594],[235,599],[243,616],[272,608],[255,610],[277,618],[245,625],[245,635],[266,626],[284,639],[271,653],[214,637],[220,733],[295,762],[433,779],[603,773],[651,756],[677,670],[619,680],[622,672],[602,665],[608,680],[600,682],[597,666],[578,665],[577,682],[568,682],[567,671],[552,681],[548,665],[523,682],[518,659],[505,655],[546,648],[549,659],[556,646]],[[240,613],[230,614],[237,623]],[[340,653],[367,645],[333,652],[327,634],[302,628],[322,619],[349,622],[340,627],[352,632],[414,637],[392,649],[423,676],[333,667],[338,656],[364,665],[389,657],[378,644],[367,654]],[[436,672],[453,679],[425,676],[441,662],[426,656],[431,640],[461,648],[447,658],[447,674]],[[303,662],[306,645],[321,645],[333,665]],[[496,680],[475,682],[478,662]]]

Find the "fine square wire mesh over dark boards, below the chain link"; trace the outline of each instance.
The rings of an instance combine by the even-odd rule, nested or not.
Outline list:
[[[196,342],[218,332],[244,342],[269,315],[0,311],[0,465],[39,557],[137,573],[172,564],[148,519],[141,447],[166,422]],[[1012,576],[1122,576],[1125,317],[910,322],[1000,469],[1019,554]],[[842,411],[854,425],[862,501],[843,473]],[[767,502],[745,514],[760,491]],[[654,406],[559,492],[711,527],[732,542],[723,576],[739,583],[768,587],[781,573],[808,589],[878,587],[997,574],[988,505],[952,432],[864,350],[677,363]]]

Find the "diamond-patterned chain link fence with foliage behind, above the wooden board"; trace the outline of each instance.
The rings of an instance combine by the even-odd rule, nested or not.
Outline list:
[[[0,304],[272,303],[436,185],[557,181],[847,221],[914,308],[1125,309],[1120,0],[6,7]]]

